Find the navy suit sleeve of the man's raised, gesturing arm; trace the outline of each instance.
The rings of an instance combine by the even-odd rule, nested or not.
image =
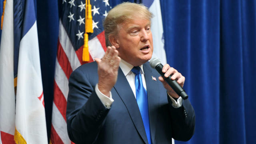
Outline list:
[[[76,144],[93,143],[109,111],[94,90],[98,81],[97,68],[88,67],[86,69],[93,72],[89,74],[81,66],[69,79],[67,128],[70,140]]]

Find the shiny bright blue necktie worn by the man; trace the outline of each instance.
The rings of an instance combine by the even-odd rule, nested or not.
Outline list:
[[[135,87],[136,87],[136,100],[140,109],[140,114],[148,138],[148,144],[151,144],[150,126],[148,118],[148,96],[147,91],[143,87],[142,78],[140,74],[140,67],[135,66],[132,68],[132,72],[135,74]]]

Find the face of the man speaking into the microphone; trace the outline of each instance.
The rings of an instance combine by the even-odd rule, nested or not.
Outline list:
[[[133,66],[144,64],[152,57],[153,40],[150,20],[134,18],[118,26],[116,41],[120,58]]]

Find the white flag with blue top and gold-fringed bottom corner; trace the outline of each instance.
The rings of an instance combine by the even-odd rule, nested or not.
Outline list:
[[[16,93],[16,143],[48,144],[34,0],[26,0]]]

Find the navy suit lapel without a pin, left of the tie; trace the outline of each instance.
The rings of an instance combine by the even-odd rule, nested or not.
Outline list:
[[[136,127],[136,130],[138,131],[144,142],[148,144],[138,104],[129,83],[120,68],[118,70],[118,80],[114,86],[114,89],[124,102],[124,105],[129,112],[129,115],[132,119],[132,122],[134,123],[134,126]]]

